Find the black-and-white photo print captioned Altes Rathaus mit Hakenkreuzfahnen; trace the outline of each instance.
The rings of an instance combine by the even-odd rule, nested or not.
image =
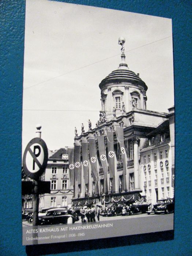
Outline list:
[[[174,229],[172,20],[26,0],[23,245]]]

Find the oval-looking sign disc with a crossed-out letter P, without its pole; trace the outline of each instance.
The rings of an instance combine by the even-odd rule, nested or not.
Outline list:
[[[44,172],[48,161],[48,149],[41,138],[32,139],[23,154],[23,171],[34,180]]]

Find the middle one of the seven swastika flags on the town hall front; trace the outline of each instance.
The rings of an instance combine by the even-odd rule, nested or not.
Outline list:
[[[93,181],[95,182],[95,194],[99,195],[99,188],[98,188],[99,175],[97,170],[95,138],[89,138],[89,154],[90,154],[90,163],[91,163],[91,174],[93,175]]]

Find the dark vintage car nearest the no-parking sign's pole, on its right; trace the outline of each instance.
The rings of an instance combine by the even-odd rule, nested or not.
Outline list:
[[[74,215],[69,214],[67,210],[55,210],[48,212],[46,216],[42,217],[40,223],[41,225],[52,225],[75,223],[75,221],[77,221],[77,219]]]

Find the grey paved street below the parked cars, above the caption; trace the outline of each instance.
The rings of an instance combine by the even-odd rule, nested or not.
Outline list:
[[[150,214],[150,215],[148,215],[147,213],[144,213],[144,214],[135,214],[135,215],[131,215],[131,216],[129,216],[129,215],[127,215],[127,216],[121,216],[121,215],[118,215],[118,216],[111,216],[111,217],[103,217],[103,216],[100,216],[100,222],[102,222],[102,221],[114,221],[114,220],[117,220],[117,219],[135,219],[135,218],[143,218],[144,220],[144,223],[145,223],[145,219],[147,220],[147,219],[153,219],[154,220],[154,218],[156,218],[157,219],[157,222],[159,222],[159,225],[161,225],[161,222],[166,222],[166,221],[169,221],[170,220],[170,217],[172,217],[173,218],[173,213],[172,214],[161,214],[161,215],[156,215],[156,214]],[[95,217],[95,220],[96,220],[96,222],[98,222],[97,221],[97,217]],[[24,226],[32,226],[32,223],[29,223],[29,222],[27,222],[27,221],[23,221],[22,222],[22,224],[23,224],[23,227]],[[76,224],[81,224],[81,218],[79,218],[79,221],[76,221],[75,223],[74,223],[74,225],[76,225]],[[62,224],[61,224],[62,225]],[[83,224],[84,225],[84,224]]]

